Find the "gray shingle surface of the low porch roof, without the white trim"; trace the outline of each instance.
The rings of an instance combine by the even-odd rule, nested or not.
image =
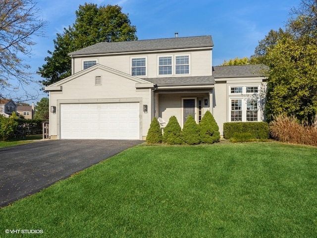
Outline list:
[[[156,83],[158,86],[213,85],[215,83],[213,76],[145,78],[145,80]]]

